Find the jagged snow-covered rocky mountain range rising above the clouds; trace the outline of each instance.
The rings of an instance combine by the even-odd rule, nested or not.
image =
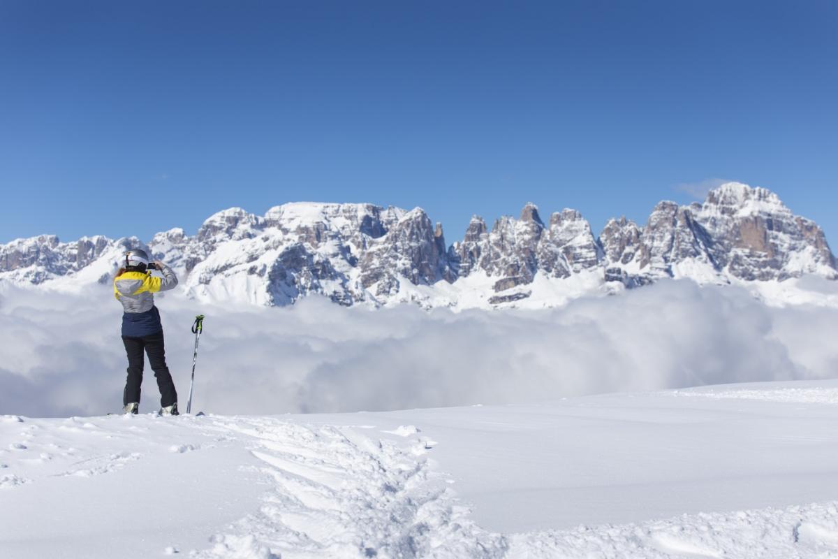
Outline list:
[[[0,281],[108,282],[117,256],[141,246],[202,300],[286,305],[316,293],[335,303],[425,307],[551,306],[665,277],[700,283],[838,277],[820,227],[772,192],[728,183],[702,204],[660,202],[645,225],[610,220],[600,236],[576,210],[542,220],[535,204],[491,230],[474,216],[447,246],[424,210],[373,204],[282,204],[266,215],[220,211],[195,236],[182,229],[61,243],[38,236],[0,246]]]

